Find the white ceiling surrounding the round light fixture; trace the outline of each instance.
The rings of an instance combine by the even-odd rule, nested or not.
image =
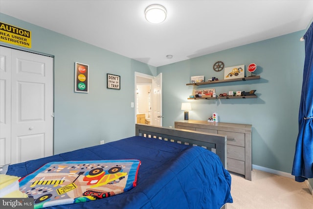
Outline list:
[[[155,3],[160,24],[144,18]],[[306,29],[313,0],[0,0],[0,12],[159,67]]]

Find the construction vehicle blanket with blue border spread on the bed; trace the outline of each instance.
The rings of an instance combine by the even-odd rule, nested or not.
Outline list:
[[[102,199],[136,186],[138,160],[51,162],[20,180],[34,209]]]

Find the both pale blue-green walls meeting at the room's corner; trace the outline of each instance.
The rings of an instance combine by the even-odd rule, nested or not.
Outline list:
[[[134,135],[134,71],[163,73],[163,126],[174,126],[183,119],[181,102],[193,91],[186,86],[190,76],[223,79],[224,71],[212,69],[216,61],[226,67],[254,62],[260,80],[200,88],[217,93],[256,89],[258,98],[188,100],[193,109],[189,117],[206,120],[217,112],[222,122],[252,124],[253,164],[291,173],[304,63],[299,38],[305,31],[155,68],[4,14],[0,21],[31,30],[31,50],[55,56],[55,154]],[[74,62],[89,64],[88,94],[73,92]],[[121,76],[120,91],[106,89],[106,73]]]

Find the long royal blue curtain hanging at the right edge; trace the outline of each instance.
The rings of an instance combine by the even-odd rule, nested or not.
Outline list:
[[[299,108],[299,134],[291,173],[297,182],[313,178],[313,23],[303,38],[305,60]]]

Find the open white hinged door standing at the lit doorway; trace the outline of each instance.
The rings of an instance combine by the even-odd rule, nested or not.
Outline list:
[[[152,80],[152,125],[162,126],[162,73]]]

